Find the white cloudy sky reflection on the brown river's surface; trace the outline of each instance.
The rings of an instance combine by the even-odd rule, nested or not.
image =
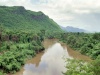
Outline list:
[[[67,51],[60,43],[55,43],[46,49],[38,66],[32,63],[26,64],[23,75],[62,75],[62,71],[65,69],[63,60],[65,56],[68,56]]]

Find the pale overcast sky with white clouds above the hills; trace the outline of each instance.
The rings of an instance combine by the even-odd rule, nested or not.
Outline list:
[[[59,25],[100,32],[100,0],[0,0],[3,6],[42,11]]]

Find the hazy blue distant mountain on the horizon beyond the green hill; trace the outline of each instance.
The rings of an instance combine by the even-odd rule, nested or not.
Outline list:
[[[67,27],[60,26],[60,27],[62,30],[67,31],[67,32],[86,32],[86,30],[84,30],[84,29],[75,28],[72,26],[67,26]]]

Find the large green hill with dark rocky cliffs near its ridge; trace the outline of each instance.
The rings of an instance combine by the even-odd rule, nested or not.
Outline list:
[[[22,6],[0,6],[0,25],[6,30],[39,32],[62,31],[57,23],[46,16],[43,12],[26,10]]]

